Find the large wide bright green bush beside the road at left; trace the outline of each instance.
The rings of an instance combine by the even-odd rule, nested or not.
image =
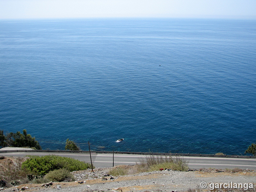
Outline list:
[[[22,163],[22,168],[27,169],[33,175],[46,175],[50,171],[65,168],[68,171],[78,171],[90,168],[88,163],[79,160],[55,155],[31,156]]]

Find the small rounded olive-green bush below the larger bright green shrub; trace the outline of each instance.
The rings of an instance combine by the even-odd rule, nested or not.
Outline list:
[[[58,169],[50,171],[47,173],[44,178],[51,181],[74,181],[75,177],[67,169]]]

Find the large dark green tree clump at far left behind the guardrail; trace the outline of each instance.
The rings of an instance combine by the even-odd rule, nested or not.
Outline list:
[[[0,132],[0,142],[1,142],[1,132]],[[42,149],[39,145],[38,141],[36,141],[35,137],[32,137],[30,134],[27,134],[27,130],[23,130],[23,134],[19,131],[16,133],[10,132],[4,137],[5,146],[12,146],[12,147],[29,147],[29,148],[36,148]],[[4,147],[5,147],[4,146]]]

